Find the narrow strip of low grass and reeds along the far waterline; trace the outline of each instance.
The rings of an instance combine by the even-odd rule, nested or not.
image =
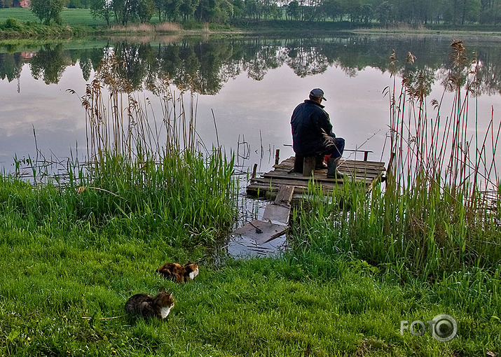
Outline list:
[[[2,27],[4,25],[4,27]],[[457,35],[457,36],[501,36],[501,27],[489,29],[448,29],[441,28],[411,28],[394,27],[381,28],[351,28],[345,24],[310,24],[308,30],[298,27],[294,22],[262,22],[259,27],[249,26],[231,27],[230,25],[193,24],[184,25],[191,28],[183,28],[179,22],[163,22],[150,24],[131,24],[126,27],[114,25],[110,28],[101,25],[41,25],[39,22],[22,21],[15,18],[12,27],[7,27],[0,17],[0,44],[6,41],[21,40],[66,40],[88,37],[114,37],[114,36],[280,36],[295,34],[297,36],[331,36],[333,34],[363,35],[395,35],[395,36],[434,36],[434,35]],[[328,26],[331,25],[331,26]],[[200,26],[200,28],[198,28]]]

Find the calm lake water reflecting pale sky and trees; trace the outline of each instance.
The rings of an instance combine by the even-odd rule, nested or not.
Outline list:
[[[501,113],[500,38],[460,38],[468,56],[480,59],[479,131],[491,113]],[[115,52],[117,69],[134,90],[155,106],[151,90],[160,78],[198,99],[197,131],[205,146],[217,142],[240,154],[239,165],[259,163],[259,171],[293,155],[290,115],[313,87],[325,92],[334,132],[346,148],[373,151],[369,160],[387,161],[389,102],[387,68],[395,50],[403,68],[408,51],[416,69],[430,77],[427,103],[440,98],[450,67],[452,36],[329,36],[324,38],[165,38],[41,44],[32,48],[0,45],[0,165],[13,170],[13,158],[32,158],[36,147],[50,158],[82,158],[86,153],[85,113],[78,95],[92,80],[102,57]],[[397,82],[399,82],[399,78]],[[75,90],[78,95],[67,92]],[[179,90],[178,90],[179,92]],[[449,96],[451,94],[448,94]],[[447,100],[452,99],[444,99]],[[430,110],[432,106],[430,105]],[[213,117],[214,116],[214,117]],[[214,127],[214,118],[217,125]],[[347,152],[345,157],[355,158]],[[362,154],[357,154],[362,158]]]

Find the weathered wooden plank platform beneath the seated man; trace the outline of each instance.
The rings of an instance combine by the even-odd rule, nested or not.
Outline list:
[[[273,170],[260,177],[252,176],[247,186],[247,195],[258,197],[275,197],[280,186],[294,186],[294,194],[303,194],[308,190],[310,176],[294,172],[294,156],[283,160],[280,164],[273,165]],[[385,163],[376,161],[341,160],[338,170],[348,174],[350,180],[366,185],[367,190],[379,183],[385,173]],[[315,183],[322,187],[328,194],[335,186],[343,185],[343,179],[327,178],[327,169],[315,170],[313,173]]]

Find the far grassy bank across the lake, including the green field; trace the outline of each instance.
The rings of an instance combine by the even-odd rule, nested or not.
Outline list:
[[[11,23],[7,23],[9,20]],[[15,20],[13,23],[12,21]],[[127,27],[114,25],[107,28],[107,23],[101,18],[92,18],[89,9],[64,8],[62,10],[62,25],[41,25],[38,18],[29,8],[0,8],[0,39],[1,38],[68,38],[86,35],[102,34],[131,34],[131,33],[200,33],[200,32],[308,32],[318,34],[326,31],[349,31],[360,34],[462,34],[497,36],[501,33],[500,26],[465,25],[453,27],[451,25],[427,25],[411,27],[410,25],[396,25],[389,28],[374,27],[373,25],[356,25],[351,22],[305,22],[292,20],[266,20],[259,24],[255,22],[240,22],[234,25],[201,24],[199,22],[158,24],[158,18],[153,16],[151,23],[146,25],[130,24]]]

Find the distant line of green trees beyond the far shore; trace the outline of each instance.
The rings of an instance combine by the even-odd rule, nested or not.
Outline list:
[[[19,6],[0,0],[0,8]],[[501,23],[501,0],[32,0],[41,20],[58,20],[62,6],[90,8],[95,16],[126,25],[161,21],[239,22],[260,20],[393,24]]]

